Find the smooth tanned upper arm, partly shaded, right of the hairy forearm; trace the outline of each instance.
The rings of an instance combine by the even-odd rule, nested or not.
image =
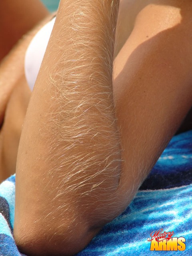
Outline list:
[[[121,190],[138,188],[132,178],[142,182],[192,105],[191,4],[153,2],[137,15],[114,64],[124,149]]]

